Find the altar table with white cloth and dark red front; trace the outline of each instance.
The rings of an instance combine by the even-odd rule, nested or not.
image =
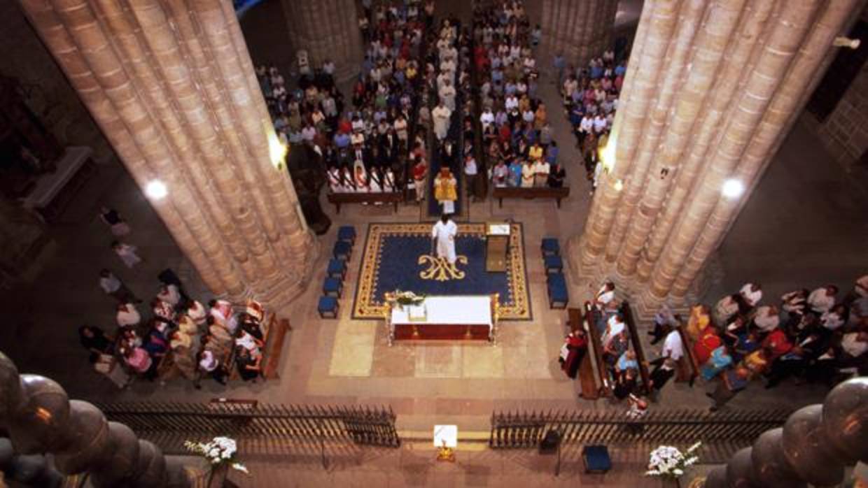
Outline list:
[[[426,296],[418,305],[388,308],[389,345],[395,340],[495,342],[497,294]]]

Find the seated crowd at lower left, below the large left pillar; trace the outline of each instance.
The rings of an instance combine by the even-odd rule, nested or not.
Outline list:
[[[115,294],[114,333],[92,326],[79,329],[95,369],[121,387],[131,376],[154,381],[169,372],[195,381],[197,387],[201,375],[226,384],[233,365],[244,381],[255,382],[261,375],[265,339],[260,303],[248,301],[239,311],[225,300],[212,300],[206,308],[187,296],[174,273],[165,276],[166,272],[161,274],[147,316],[136,307],[141,300]],[[112,280],[116,278],[102,270],[103,287],[111,286]]]

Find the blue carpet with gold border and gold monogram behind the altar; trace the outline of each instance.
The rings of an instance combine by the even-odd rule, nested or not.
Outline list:
[[[380,319],[384,294],[409,290],[425,295],[490,295],[499,293],[500,318],[529,320],[530,297],[524,267],[522,224],[512,224],[507,270],[485,270],[485,224],[458,224],[457,273],[431,271],[431,224],[371,224],[358,274],[352,317]],[[464,258],[463,258],[464,257]],[[439,280],[440,278],[447,278]]]

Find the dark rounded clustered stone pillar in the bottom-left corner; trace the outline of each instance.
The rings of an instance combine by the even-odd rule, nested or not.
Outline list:
[[[10,434],[0,439],[0,468],[26,485],[59,486],[62,475],[81,472],[89,472],[95,487],[160,488],[168,483],[166,458],[159,447],[138,439],[128,426],[107,421],[87,401],[69,400],[55,381],[38,374],[19,375],[3,353],[0,428]],[[43,457],[49,452],[54,468]]]

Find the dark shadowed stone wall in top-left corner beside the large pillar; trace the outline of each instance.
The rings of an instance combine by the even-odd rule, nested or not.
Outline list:
[[[21,81],[26,102],[62,146],[89,146],[98,163],[117,162],[75,90],[24,17],[16,0],[0,0],[0,73]]]

